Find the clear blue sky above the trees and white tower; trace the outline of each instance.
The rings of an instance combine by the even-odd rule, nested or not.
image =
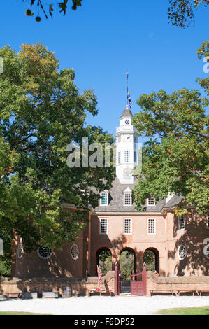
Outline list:
[[[75,69],[80,92],[92,89],[98,97],[99,114],[87,116],[88,124],[115,134],[126,104],[127,69],[133,113],[140,111],[140,94],[199,89],[195,79],[207,74],[196,49],[208,40],[209,8],[196,12],[194,27],[180,29],[168,25],[168,0],[82,2],[82,8],[69,8],[66,16],[55,6],[52,19],[41,14],[37,23],[24,14],[27,1],[3,1],[0,47],[10,45],[18,51],[22,43],[41,41],[55,52],[60,69]]]

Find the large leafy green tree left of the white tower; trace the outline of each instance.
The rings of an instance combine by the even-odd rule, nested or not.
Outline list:
[[[18,53],[6,46],[0,56],[0,230],[20,235],[25,251],[60,248],[85,227],[89,205],[115,177],[113,167],[68,167],[66,147],[83,137],[104,147],[113,137],[86,125],[87,111],[97,113],[96,97],[79,94],[75,72],[59,71],[41,43]],[[66,211],[63,202],[78,210]]]

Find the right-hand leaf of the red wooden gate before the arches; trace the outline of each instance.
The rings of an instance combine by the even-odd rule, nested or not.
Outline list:
[[[143,268],[143,272],[131,274],[131,295],[145,296],[147,295],[147,270]]]

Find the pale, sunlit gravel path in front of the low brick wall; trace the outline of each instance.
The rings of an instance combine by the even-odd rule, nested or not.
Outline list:
[[[208,296],[91,296],[67,299],[0,300],[0,311],[59,315],[150,315],[159,309],[209,306]]]

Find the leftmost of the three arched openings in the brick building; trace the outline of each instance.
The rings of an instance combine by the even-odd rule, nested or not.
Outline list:
[[[108,248],[100,248],[96,252],[96,276],[97,265],[101,268],[102,276],[105,276],[107,272],[112,271],[112,253]]]

